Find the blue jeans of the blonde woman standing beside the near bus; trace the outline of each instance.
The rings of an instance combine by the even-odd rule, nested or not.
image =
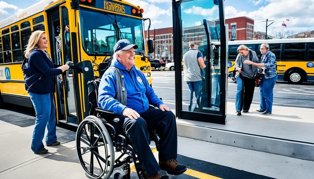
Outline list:
[[[36,112],[36,122],[33,132],[31,149],[33,152],[44,147],[42,140],[47,126],[46,144],[52,144],[57,141],[56,135],[56,107],[53,101],[53,93],[35,94],[28,92],[33,102]]]

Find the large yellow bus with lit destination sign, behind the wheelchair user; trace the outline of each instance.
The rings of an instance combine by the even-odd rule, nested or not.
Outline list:
[[[57,77],[55,103],[58,122],[78,125],[88,115],[87,82],[99,77],[100,62],[113,55],[119,39],[137,44],[136,67],[152,82],[145,47],[143,9],[123,0],[43,0],[0,22],[0,106],[32,107],[21,70],[30,34],[44,30],[54,63],[68,61],[82,70]],[[148,29],[149,31],[149,29]],[[84,74],[84,75],[83,75]]]

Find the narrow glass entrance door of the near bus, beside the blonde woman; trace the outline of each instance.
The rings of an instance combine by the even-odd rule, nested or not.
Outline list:
[[[61,5],[47,11],[51,58],[58,65],[73,61],[68,8]],[[75,42],[76,42],[76,37]],[[73,49],[74,50],[74,49]],[[76,50],[76,49],[75,49]],[[57,76],[56,107],[58,122],[78,125],[81,120],[78,70],[69,69]]]

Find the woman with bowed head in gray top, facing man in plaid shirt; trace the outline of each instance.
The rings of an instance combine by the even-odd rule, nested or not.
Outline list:
[[[236,92],[236,114],[241,115],[248,113],[255,89],[255,74],[258,72],[256,66],[247,65],[244,61],[249,60],[255,63],[259,63],[256,52],[250,50],[245,45],[238,47],[238,56],[235,61],[235,69],[239,72],[239,76],[236,78],[237,81],[237,92]]]

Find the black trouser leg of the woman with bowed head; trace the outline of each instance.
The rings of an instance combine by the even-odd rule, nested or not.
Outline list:
[[[243,97],[243,110],[248,111],[251,107],[254,89],[255,89],[255,78],[247,78],[240,76],[243,81],[244,97]]]

